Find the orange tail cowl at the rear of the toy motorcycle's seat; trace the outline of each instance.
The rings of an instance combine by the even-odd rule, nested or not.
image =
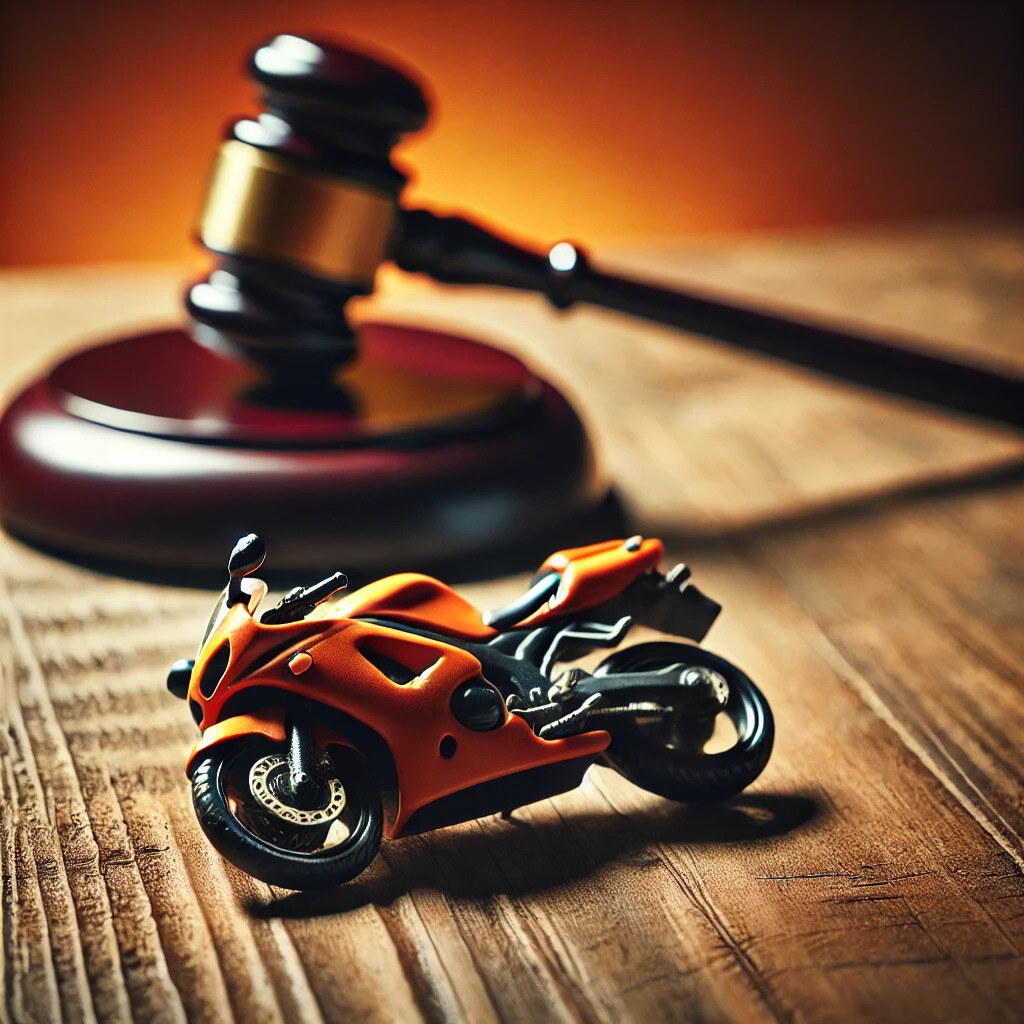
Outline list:
[[[521,625],[540,626],[552,618],[596,608],[644,572],[656,568],[664,555],[665,545],[660,541],[640,537],[556,551],[544,560],[535,579],[546,572],[558,572],[561,577],[558,589]]]

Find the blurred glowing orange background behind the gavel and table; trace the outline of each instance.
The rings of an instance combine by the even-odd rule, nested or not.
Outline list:
[[[343,35],[434,97],[408,193],[596,245],[1024,206],[1018,5],[88,2],[5,5],[0,262],[195,259],[244,53]]]

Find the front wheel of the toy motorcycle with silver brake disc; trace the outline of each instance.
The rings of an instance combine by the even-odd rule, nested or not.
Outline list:
[[[377,855],[383,810],[352,752],[317,752],[314,786],[298,801],[284,743],[215,748],[193,773],[193,803],[207,839],[247,874],[284,889],[349,882]]]

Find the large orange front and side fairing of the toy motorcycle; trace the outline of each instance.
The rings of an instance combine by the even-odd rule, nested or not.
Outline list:
[[[299,673],[290,667],[297,653],[307,656]],[[404,666],[412,678],[393,681],[378,667],[381,658]],[[452,712],[453,694],[479,678],[480,663],[451,644],[350,618],[266,626],[238,604],[214,630],[193,672],[188,697],[200,710],[204,735],[188,767],[200,751],[238,739],[247,728],[253,735],[284,738],[276,712],[232,715],[224,711],[229,700],[266,688],[294,694],[356,720],[387,744],[398,802],[384,831],[394,838],[417,811],[506,776],[508,794],[503,796],[508,807],[515,806],[512,776],[570,761],[582,766],[582,773],[587,759],[608,745],[604,731],[542,739],[523,719],[508,713],[498,728],[486,732],[463,726]]]

